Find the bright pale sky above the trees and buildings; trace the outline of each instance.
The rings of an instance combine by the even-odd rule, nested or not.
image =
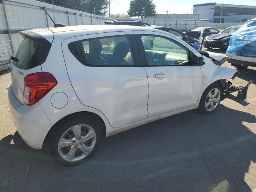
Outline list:
[[[110,0],[110,13],[125,13],[127,14],[127,10],[130,6],[130,0]],[[169,11],[168,14],[190,14],[192,12],[192,7],[194,4],[201,3],[210,3],[214,2],[214,0],[153,0],[156,4],[156,12],[158,14],[166,14],[166,11]],[[256,6],[256,0],[222,0],[215,1],[216,3],[224,3],[224,4],[237,4],[237,5],[252,5]]]

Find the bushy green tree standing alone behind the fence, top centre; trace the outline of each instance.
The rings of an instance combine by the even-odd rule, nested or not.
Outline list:
[[[131,17],[140,16],[140,18],[155,16],[156,5],[153,3],[153,0],[131,0],[127,13]]]

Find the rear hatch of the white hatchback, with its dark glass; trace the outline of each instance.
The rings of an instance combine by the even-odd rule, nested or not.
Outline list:
[[[20,32],[24,40],[20,44],[10,66],[12,89],[21,104],[24,104],[24,77],[28,74],[42,72],[41,64],[46,60],[51,47],[51,43],[48,41],[49,38],[46,40],[34,31]]]

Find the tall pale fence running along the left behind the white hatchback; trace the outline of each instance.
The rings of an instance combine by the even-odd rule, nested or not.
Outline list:
[[[107,17],[72,10],[35,0],[0,0],[0,74],[8,71],[23,38],[19,31],[65,25],[104,24]]]

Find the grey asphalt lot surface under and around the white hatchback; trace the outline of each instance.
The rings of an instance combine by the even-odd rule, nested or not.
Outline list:
[[[0,191],[256,191],[256,68],[231,81],[249,80],[246,107],[225,99],[211,115],[192,110],[122,132],[67,168],[20,138],[8,107],[10,74],[0,76]]]

